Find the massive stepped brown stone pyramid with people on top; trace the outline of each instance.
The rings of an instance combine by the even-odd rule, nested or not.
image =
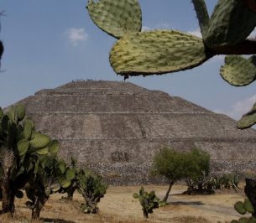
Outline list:
[[[164,147],[206,150],[216,174],[255,170],[255,130],[238,130],[230,117],[162,91],[128,82],[72,81],[19,103],[38,131],[60,141],[60,158],[77,157],[110,184],[163,183],[148,171]]]

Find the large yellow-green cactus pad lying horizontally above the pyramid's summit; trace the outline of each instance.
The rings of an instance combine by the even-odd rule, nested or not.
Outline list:
[[[154,75],[191,69],[211,57],[194,35],[154,30],[125,35],[113,45],[109,60],[120,75]]]

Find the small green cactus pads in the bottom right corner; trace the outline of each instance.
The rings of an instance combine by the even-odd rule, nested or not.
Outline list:
[[[241,217],[239,220],[232,220],[231,223],[256,223],[256,218],[254,217],[255,211],[253,205],[248,199],[244,199],[244,202],[238,201],[234,205],[235,210],[238,211],[240,215],[245,215],[246,213],[252,214],[250,217]]]

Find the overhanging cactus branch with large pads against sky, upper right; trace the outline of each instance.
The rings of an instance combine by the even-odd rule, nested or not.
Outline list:
[[[88,3],[91,19],[107,34],[117,38],[109,60],[113,70],[128,76],[162,75],[192,69],[215,55],[227,54],[221,75],[233,86],[246,86],[256,79],[253,39],[255,6],[243,0],[218,0],[210,17],[204,0],[192,0],[202,39],[174,30],[141,31],[142,13],[138,0],[99,0]],[[254,109],[253,109],[254,111]],[[238,128],[256,123],[250,111]]]

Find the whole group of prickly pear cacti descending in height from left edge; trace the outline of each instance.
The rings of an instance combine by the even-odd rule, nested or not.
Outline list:
[[[67,193],[68,197],[76,189],[86,200],[81,205],[86,213],[96,213],[97,203],[106,194],[108,184],[102,176],[89,169],[76,169],[76,158],[71,163],[57,157],[60,148],[57,140],[36,132],[34,121],[25,117],[25,108],[11,106],[3,112],[0,108],[0,197],[3,213],[14,213],[14,198],[24,197],[25,189],[32,210],[32,219],[39,219],[50,194]]]

